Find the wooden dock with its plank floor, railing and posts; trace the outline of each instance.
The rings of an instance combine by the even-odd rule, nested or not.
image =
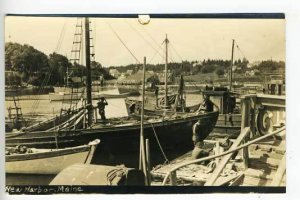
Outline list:
[[[285,186],[285,98],[247,95],[241,105],[241,131],[229,149],[214,138],[209,156],[192,160],[189,152],[153,169],[153,185]]]

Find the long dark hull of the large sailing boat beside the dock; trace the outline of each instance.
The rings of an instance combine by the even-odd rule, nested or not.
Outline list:
[[[145,139],[150,141],[151,158],[163,159],[153,128],[166,155],[171,158],[174,152],[192,149],[192,126],[202,119],[203,134],[211,132],[218,119],[218,112],[187,116],[186,118],[170,119],[160,122],[145,122]],[[59,148],[86,144],[94,139],[100,139],[94,164],[121,164],[136,167],[140,145],[140,124],[99,127],[61,132],[29,132],[23,135],[6,137],[6,146],[19,144],[36,148]],[[170,156],[169,156],[170,155]],[[133,160],[133,162],[131,162]],[[152,163],[153,165],[156,163]]]

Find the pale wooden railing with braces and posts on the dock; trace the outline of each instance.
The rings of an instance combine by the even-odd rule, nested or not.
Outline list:
[[[177,175],[176,171],[182,167],[185,167],[187,165],[191,164],[196,164],[196,163],[201,163],[203,161],[208,161],[212,159],[217,160],[217,166],[214,169],[213,173],[211,176],[208,178],[208,180],[205,183],[205,186],[214,186],[216,183],[217,178],[225,168],[226,164],[230,161],[231,157],[233,154],[239,150],[242,150],[242,158],[243,158],[243,163],[245,169],[248,168],[249,164],[249,150],[248,147],[254,143],[257,143],[259,141],[262,141],[266,138],[269,138],[271,136],[274,136],[279,133],[285,134],[285,126],[277,126],[276,124],[274,125],[275,128],[273,128],[273,131],[268,131],[264,135],[259,133],[257,131],[257,113],[261,111],[262,109],[269,109],[273,113],[275,113],[275,118],[274,116],[271,116],[271,120],[279,122],[280,121],[280,115],[279,112],[283,111],[283,115],[285,116],[285,98],[276,98],[274,96],[270,95],[245,95],[241,98],[241,111],[242,111],[242,120],[241,120],[241,132],[238,138],[234,141],[230,149],[226,152],[223,153],[216,153],[216,155],[196,159],[196,160],[191,160],[187,161],[185,163],[182,163],[181,165],[178,165],[167,173],[163,180],[163,185],[166,185],[168,179],[170,179],[170,184],[171,185],[176,185],[177,183]],[[273,114],[270,114],[273,115]],[[280,128],[278,128],[280,127]],[[262,135],[262,136],[259,136]],[[254,136],[256,136],[255,139]],[[259,136],[259,137],[258,137]],[[250,141],[251,138],[251,141]],[[218,150],[218,143],[216,145],[216,152],[219,152]],[[282,167],[279,167],[278,173],[276,175],[276,179],[274,180],[274,183],[272,185],[278,185],[278,182],[280,182],[282,178],[282,174],[285,172],[285,161],[281,165]]]

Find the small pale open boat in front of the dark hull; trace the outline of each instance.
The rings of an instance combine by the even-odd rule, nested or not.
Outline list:
[[[76,164],[89,164],[100,140],[64,149],[6,148],[5,172],[13,174],[57,174]],[[20,148],[23,151],[19,152]]]

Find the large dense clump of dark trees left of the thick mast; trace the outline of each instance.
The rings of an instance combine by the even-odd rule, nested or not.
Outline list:
[[[92,78],[104,76],[111,79],[109,73],[98,62],[92,62]],[[34,86],[63,86],[66,84],[67,71],[70,76],[83,77],[86,68],[71,63],[66,56],[53,52],[49,56],[30,45],[18,43],[5,44],[5,83],[7,85],[31,84]]]

